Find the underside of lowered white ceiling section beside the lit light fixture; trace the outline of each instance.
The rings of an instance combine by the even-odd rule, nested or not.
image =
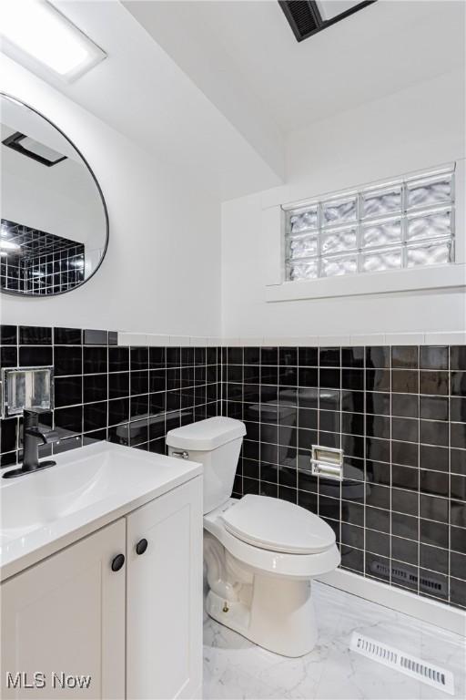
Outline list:
[[[37,75],[170,170],[215,187],[222,199],[282,182],[278,131],[270,135],[267,123],[251,115],[250,124],[257,118],[255,129],[268,133],[264,148],[251,145],[120,2],[54,0],[54,5],[108,57],[71,84],[39,67]]]

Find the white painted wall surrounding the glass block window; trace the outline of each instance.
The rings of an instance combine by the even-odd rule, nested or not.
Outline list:
[[[266,303],[261,250],[263,207],[463,159],[464,125],[461,68],[291,134],[288,185],[222,206],[224,335],[465,330],[464,289]]]

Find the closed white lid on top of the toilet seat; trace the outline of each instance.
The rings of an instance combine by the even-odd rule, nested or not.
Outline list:
[[[238,540],[263,550],[316,554],[335,543],[335,533],[324,520],[288,500],[248,494],[222,520]]]

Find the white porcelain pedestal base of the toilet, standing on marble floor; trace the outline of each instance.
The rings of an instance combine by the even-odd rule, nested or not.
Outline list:
[[[208,615],[274,654],[309,654],[318,635],[310,581],[254,573],[251,588],[252,595],[236,601],[210,590]]]

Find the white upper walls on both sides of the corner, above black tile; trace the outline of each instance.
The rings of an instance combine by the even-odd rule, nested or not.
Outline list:
[[[82,149],[104,190],[110,216],[106,259],[90,282],[46,300],[2,294],[2,322],[218,335],[217,194],[201,181],[171,172],[11,61],[3,60],[0,68],[0,88],[44,112]],[[466,327],[463,290],[267,304],[260,249],[264,206],[464,158],[463,78],[460,72],[443,75],[295,132],[288,142],[289,184],[224,203],[225,335],[435,332]]]

